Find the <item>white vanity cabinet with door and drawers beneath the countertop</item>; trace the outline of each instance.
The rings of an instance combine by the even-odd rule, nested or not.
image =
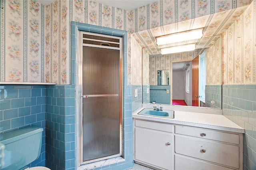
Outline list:
[[[134,161],[154,169],[242,170],[242,154],[234,130],[134,119]]]

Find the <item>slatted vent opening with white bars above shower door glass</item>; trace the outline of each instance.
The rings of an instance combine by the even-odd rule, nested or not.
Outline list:
[[[83,34],[83,44],[93,47],[102,47],[103,48],[111,48],[111,49],[119,49],[120,47],[120,39],[114,38],[113,36],[105,36],[100,34],[99,36],[90,33]]]

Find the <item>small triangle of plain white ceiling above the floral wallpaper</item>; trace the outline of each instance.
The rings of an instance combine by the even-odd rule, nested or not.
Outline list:
[[[156,2],[156,0],[93,0],[93,1],[99,2],[100,4],[121,8],[124,10],[133,10],[141,6],[151,4],[152,2]]]

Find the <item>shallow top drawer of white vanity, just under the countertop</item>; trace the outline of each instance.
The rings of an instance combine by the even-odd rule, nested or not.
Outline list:
[[[239,144],[239,135],[233,133],[219,132],[207,128],[188,127],[188,126],[175,126],[175,133],[184,134],[187,136],[194,136],[198,138],[205,138],[217,140],[221,142],[228,142]]]

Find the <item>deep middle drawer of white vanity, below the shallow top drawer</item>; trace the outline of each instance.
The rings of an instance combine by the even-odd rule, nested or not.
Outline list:
[[[175,135],[175,153],[239,168],[239,147]]]

